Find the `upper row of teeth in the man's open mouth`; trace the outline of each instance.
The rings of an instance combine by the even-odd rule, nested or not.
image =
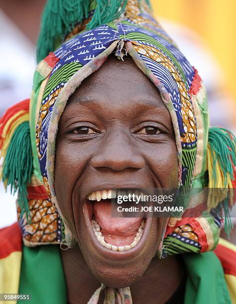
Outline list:
[[[118,195],[129,195],[129,194],[135,194],[137,196],[139,195],[144,195],[143,192],[139,190],[99,190],[99,191],[93,191],[91,192],[88,196],[87,199],[89,201],[98,201],[100,202],[101,199],[106,200],[106,199],[112,199],[116,198]]]

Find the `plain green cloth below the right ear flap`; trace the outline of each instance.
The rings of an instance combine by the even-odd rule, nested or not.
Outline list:
[[[187,270],[184,304],[230,304],[220,260],[214,252],[183,254]]]

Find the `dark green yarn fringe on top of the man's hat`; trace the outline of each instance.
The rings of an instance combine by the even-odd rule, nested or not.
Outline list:
[[[37,42],[37,61],[54,51],[82,20],[93,10],[86,29],[93,29],[120,17],[128,0],[48,0],[42,15]],[[139,0],[140,1],[140,0]],[[145,0],[151,6],[150,0]]]

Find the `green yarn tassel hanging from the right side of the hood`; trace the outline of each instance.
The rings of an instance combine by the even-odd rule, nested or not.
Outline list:
[[[230,131],[224,128],[212,127],[209,129],[208,142],[211,146],[214,166],[216,164],[216,161],[218,160],[221,169],[224,172],[224,181],[226,186],[227,172],[230,173],[231,179],[234,179],[234,170],[236,166],[236,137]],[[213,153],[213,151],[215,153]],[[216,180],[215,170],[213,170],[213,175]],[[224,211],[224,230],[228,237],[230,237],[230,231],[234,227],[230,216],[230,211],[232,207],[229,204],[229,196],[228,198],[224,199],[216,208],[217,215],[221,219],[223,218],[222,212]]]

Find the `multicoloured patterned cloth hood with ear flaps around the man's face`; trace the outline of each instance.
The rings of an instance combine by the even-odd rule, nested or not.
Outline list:
[[[61,242],[72,246],[75,242],[54,192],[57,127],[70,95],[85,77],[99,69],[112,52],[120,59],[126,53],[133,58],[157,86],[170,113],[178,154],[178,187],[182,195],[190,187],[200,189],[195,203],[191,203],[189,197],[186,199],[185,217],[189,208],[191,212],[197,212],[206,202],[202,178],[205,174],[208,137],[205,88],[197,71],[154,19],[145,1],[141,7],[138,0],[129,0],[119,20],[82,32],[78,32],[81,30],[78,25],[73,33],[68,34],[67,40],[42,60],[36,69],[30,100],[34,157],[34,176],[30,186],[34,195],[29,199],[32,223],[27,223],[25,216],[20,220],[23,240],[28,246]],[[38,184],[45,189],[44,197],[39,196]],[[176,206],[178,204],[177,200]],[[204,221],[193,223],[183,217],[184,220],[176,220],[174,227],[170,228],[166,221],[161,231],[163,243],[160,243],[158,256],[163,258],[168,254],[213,249],[212,244],[217,244],[219,235],[209,231],[218,231],[219,226],[210,213],[205,216],[210,218],[211,225],[203,224]],[[191,230],[191,235],[187,236],[182,231],[193,226],[197,232]],[[193,235],[197,238],[194,244]]]

